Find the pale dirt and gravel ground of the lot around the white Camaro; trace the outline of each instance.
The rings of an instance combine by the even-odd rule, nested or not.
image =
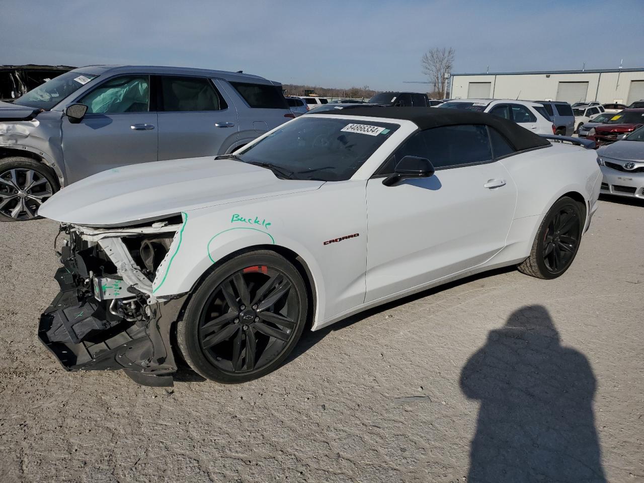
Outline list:
[[[644,204],[601,202],[559,279],[424,292],[242,386],[64,372],[36,337],[55,231],[0,225],[3,483],[644,482]]]

